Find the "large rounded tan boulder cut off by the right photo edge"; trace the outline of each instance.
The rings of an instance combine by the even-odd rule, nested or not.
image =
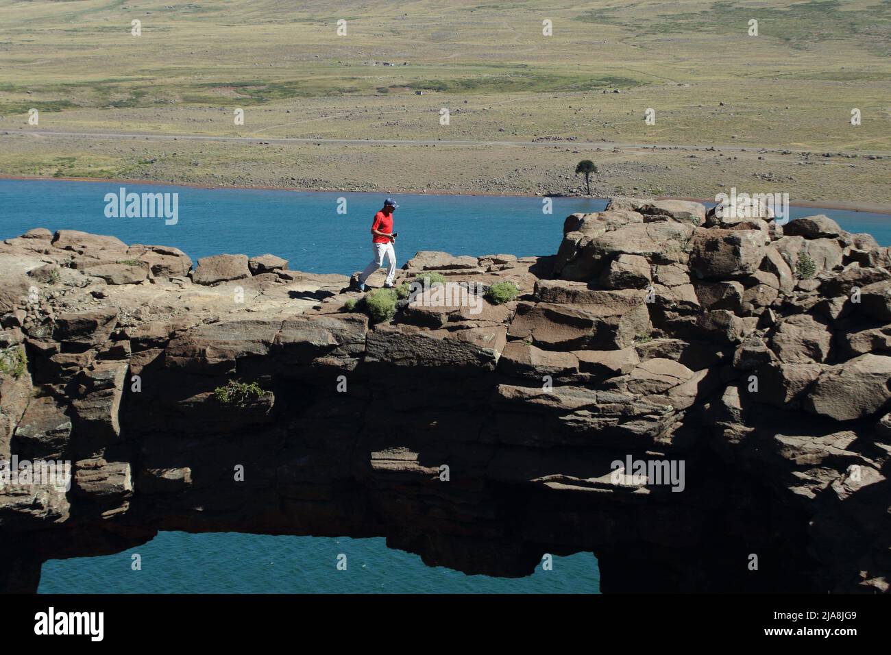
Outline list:
[[[830,366],[813,385],[803,406],[836,421],[853,421],[879,412],[891,399],[891,356],[861,355]]]

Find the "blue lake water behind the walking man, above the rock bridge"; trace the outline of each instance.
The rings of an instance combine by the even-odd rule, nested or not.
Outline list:
[[[288,192],[198,189],[131,184],[128,192],[178,192],[176,225],[163,218],[107,218],[104,196],[120,184],[61,180],[0,180],[0,238],[32,227],[113,234],[127,243],[176,246],[193,259],[221,252],[248,256],[271,252],[290,268],[351,274],[371,258],[369,229],[383,193]],[[552,214],[541,198],[396,195],[394,229],[400,265],[418,250],[454,255],[511,253],[519,257],[557,252],[563,219],[599,211],[606,202],[553,198]],[[347,201],[338,213],[338,199]],[[821,213],[792,208],[792,217]],[[891,217],[822,210],[851,232],[869,232],[891,245]]]

